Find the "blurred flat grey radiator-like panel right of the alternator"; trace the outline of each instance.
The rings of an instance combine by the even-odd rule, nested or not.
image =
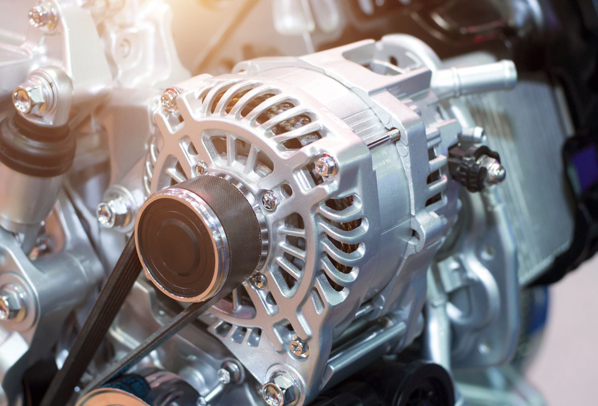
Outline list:
[[[523,78],[508,92],[463,99],[509,171],[498,190],[518,246],[519,280],[525,285],[550,267],[573,239],[561,155],[569,136],[567,118],[543,74]]]

